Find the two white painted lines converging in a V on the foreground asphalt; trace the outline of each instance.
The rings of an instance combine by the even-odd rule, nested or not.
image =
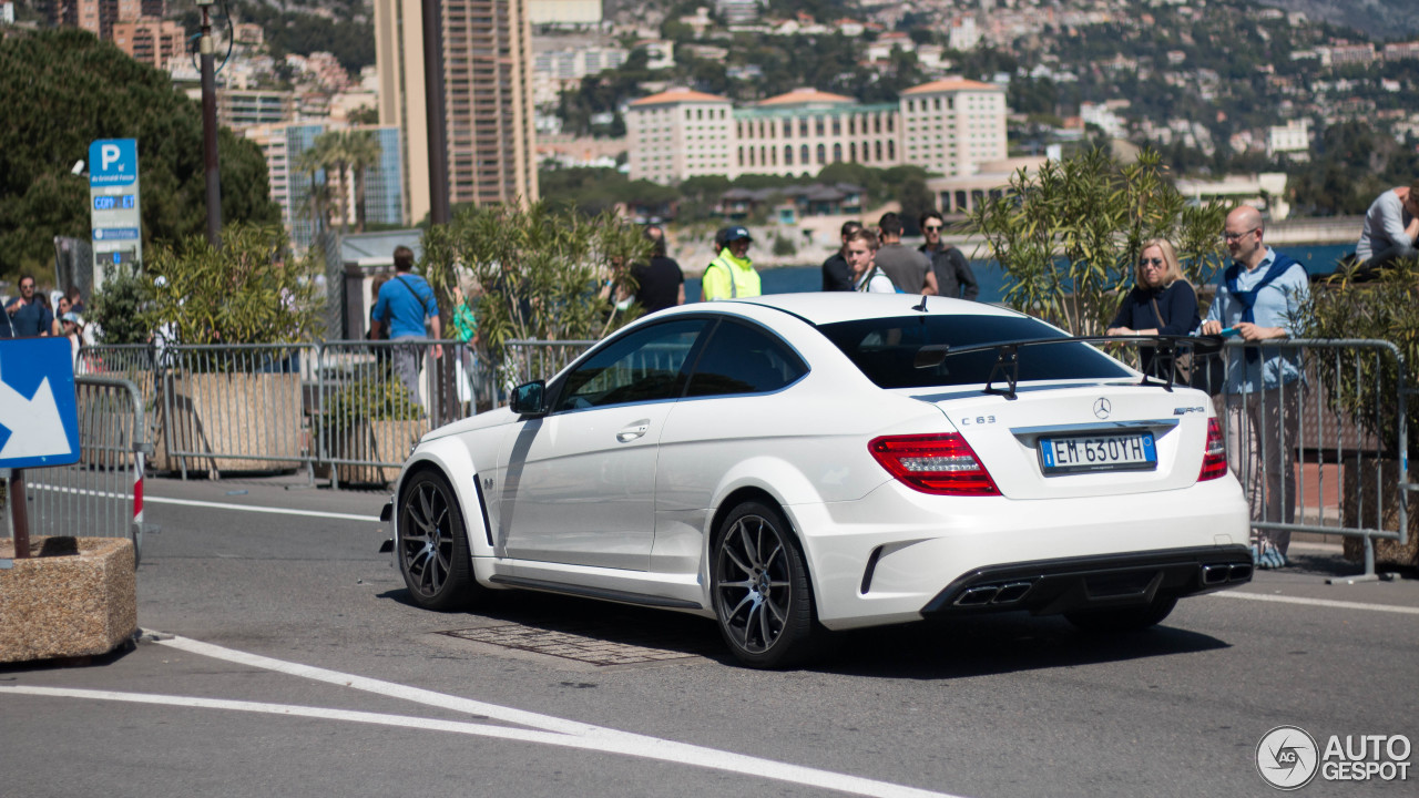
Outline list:
[[[287,673],[291,676],[312,679],[315,682],[326,682],[331,684],[353,687],[356,690],[365,690],[382,696],[404,699],[420,704],[437,706],[446,710],[463,711],[531,728],[509,728],[509,727],[490,726],[482,723],[464,723],[464,721],[421,718],[412,716],[332,710],[324,707],[265,704],[257,701],[230,701],[221,699],[199,699],[186,696],[158,696],[149,693],[118,693],[108,690],[71,690],[71,689],[57,689],[57,687],[0,686],[0,694],[18,693],[31,696],[131,701],[131,703],[145,703],[145,704],[165,704],[165,706],[233,710],[233,711],[284,714],[294,717],[314,717],[325,720],[343,720],[350,723],[373,723],[382,726],[423,728],[431,731],[453,731],[457,734],[474,734],[480,737],[494,737],[501,740],[541,743],[546,745],[562,745],[568,748],[582,748],[589,751],[603,751],[609,754],[623,754],[629,757],[641,757],[647,760],[660,760],[674,764],[695,765],[702,768],[719,770],[725,772],[736,772],[748,777],[771,778],[775,781],[800,784],[805,787],[833,789],[836,792],[847,792],[851,795],[868,795],[877,798],[958,798],[955,795],[949,795],[945,792],[932,792],[929,789],[918,789],[915,787],[904,787],[887,781],[876,781],[856,775],[847,775],[847,774],[809,768],[802,765],[792,765],[788,763],[778,763],[773,760],[763,760],[759,757],[749,757],[744,754],[734,754],[729,751],[719,751],[715,748],[690,745],[687,743],[675,743],[673,740],[663,740],[658,737],[633,734],[629,731],[617,731],[614,728],[604,728],[600,726],[590,726],[586,723],[565,720],[553,716],[531,713],[512,707],[502,707],[485,701],[461,699],[458,696],[434,693],[431,690],[409,687],[406,684],[397,684],[393,682],[368,679],[350,673],[341,673],[338,670],[326,670],[324,667],[315,667],[309,665],[265,657],[261,655],[253,655],[247,652],[227,649],[223,646],[203,643],[200,640],[192,640],[187,638],[159,639],[158,642],[160,645],[200,656],[221,659],[238,665],[258,667],[263,670],[272,670],[277,673]]]

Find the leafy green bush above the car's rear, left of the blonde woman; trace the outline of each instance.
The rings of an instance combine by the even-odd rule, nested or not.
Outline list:
[[[1094,149],[1036,175],[1020,169],[1009,189],[978,204],[971,222],[1005,271],[1010,307],[1076,335],[1097,335],[1118,308],[1142,243],[1172,241],[1193,285],[1222,263],[1218,233],[1227,207],[1188,206],[1154,151],[1118,166]]]

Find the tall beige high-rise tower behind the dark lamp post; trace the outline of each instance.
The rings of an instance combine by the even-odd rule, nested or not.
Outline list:
[[[526,0],[440,0],[448,200],[538,199]],[[429,214],[429,112],[419,0],[375,0],[380,125],[400,131],[406,223]]]

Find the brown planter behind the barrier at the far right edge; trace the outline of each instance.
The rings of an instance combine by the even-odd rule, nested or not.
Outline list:
[[[1347,527],[1369,527],[1382,530],[1399,528],[1399,496],[1403,493],[1399,481],[1399,463],[1358,457],[1345,461],[1344,520]],[[1382,494],[1382,496],[1381,496]],[[1375,565],[1419,567],[1419,501],[1409,501],[1409,544],[1375,540]],[[1365,558],[1364,541],[1345,537],[1345,559],[1359,562]]]

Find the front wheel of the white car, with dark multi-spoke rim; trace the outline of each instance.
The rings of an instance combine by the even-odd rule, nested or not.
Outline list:
[[[448,481],[436,471],[419,471],[404,487],[394,551],[404,586],[419,606],[458,609],[478,589],[463,508]]]

